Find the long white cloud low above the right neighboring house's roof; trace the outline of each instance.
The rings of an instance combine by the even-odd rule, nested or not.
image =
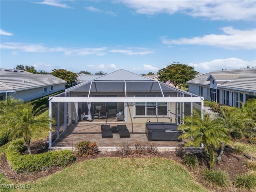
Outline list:
[[[208,62],[194,63],[194,68],[198,72],[210,72],[222,69],[240,69],[250,66],[250,68],[255,67],[256,61],[244,61],[239,58],[227,58],[227,59],[214,59]],[[192,64],[189,64],[192,66]]]

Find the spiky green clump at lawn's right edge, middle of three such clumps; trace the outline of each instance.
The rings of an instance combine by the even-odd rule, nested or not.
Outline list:
[[[212,184],[213,186],[218,185],[224,187],[227,185],[228,174],[221,170],[202,170],[202,178]]]

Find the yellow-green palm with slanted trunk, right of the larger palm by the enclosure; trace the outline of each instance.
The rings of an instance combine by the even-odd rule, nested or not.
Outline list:
[[[230,107],[222,108],[220,107],[220,122],[226,127],[229,134],[231,132],[240,133],[242,136],[250,136],[252,134],[252,127],[255,126],[255,122],[252,118],[248,116],[243,110]],[[220,154],[217,157],[217,163],[221,161],[221,156],[223,154],[225,142],[221,142]]]

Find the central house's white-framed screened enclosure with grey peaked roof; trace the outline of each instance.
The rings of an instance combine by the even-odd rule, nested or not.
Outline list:
[[[52,135],[60,136],[61,126],[65,131],[72,123],[115,119],[117,114],[122,114],[127,124],[145,124],[149,119],[182,124],[182,118],[191,115],[194,107],[202,112],[203,101],[200,96],[162,82],[117,70],[49,98],[49,115],[57,122],[55,132],[50,133],[49,147]]]

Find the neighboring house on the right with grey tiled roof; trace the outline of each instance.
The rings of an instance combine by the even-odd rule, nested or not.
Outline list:
[[[256,68],[212,71],[187,83],[188,92],[229,106],[256,98]]]

